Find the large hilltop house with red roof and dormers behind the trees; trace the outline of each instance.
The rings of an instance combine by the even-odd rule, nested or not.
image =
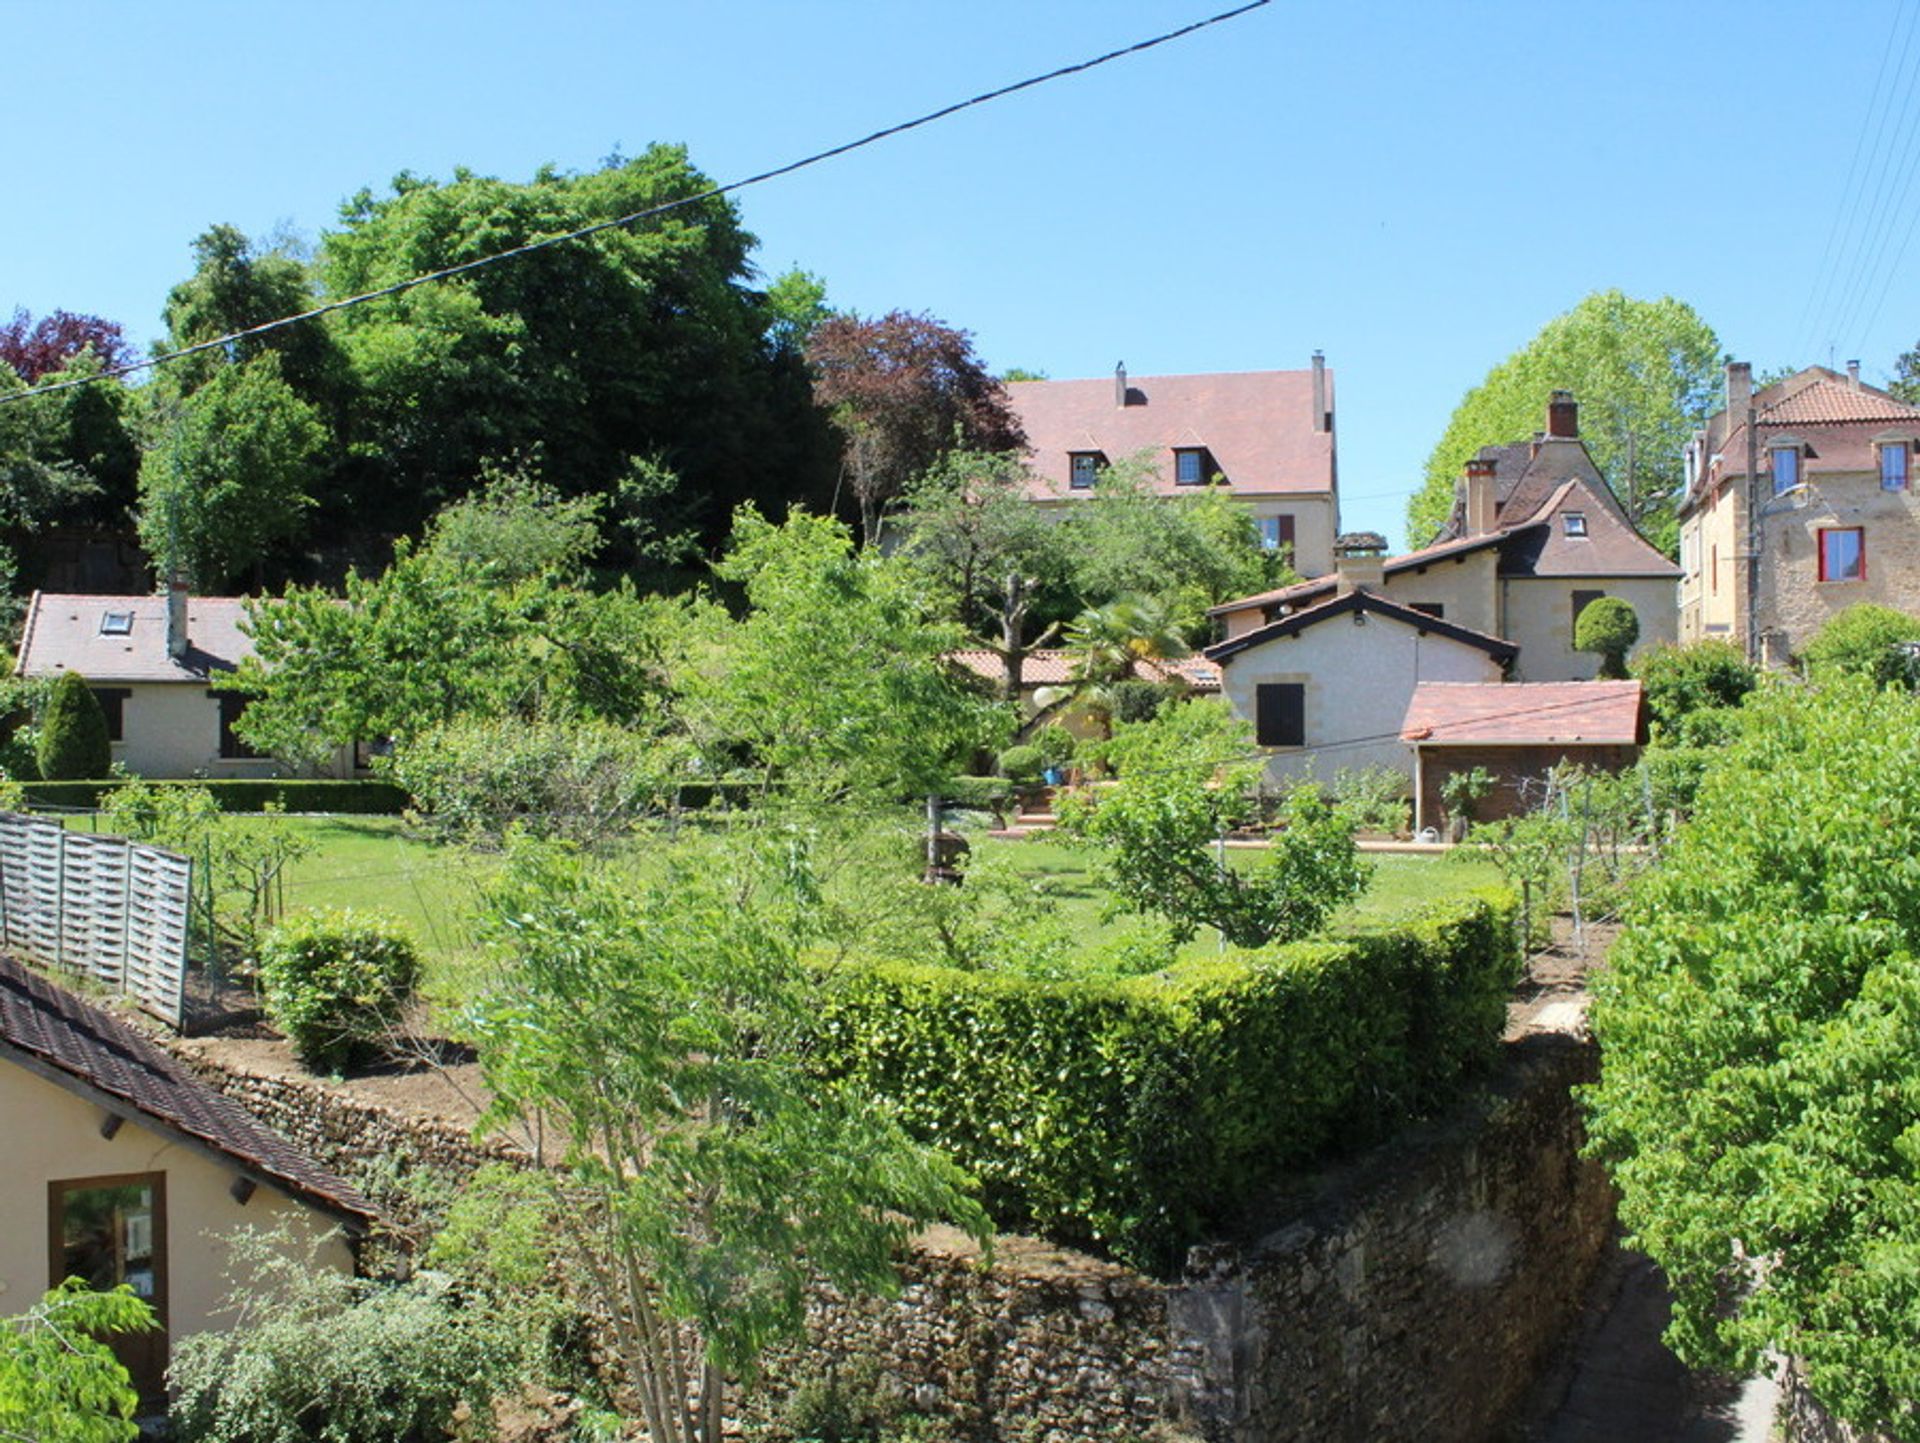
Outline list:
[[[1146,457],[1158,493],[1223,485],[1296,572],[1332,570],[1340,489],[1332,372],[1319,351],[1306,370],[1129,376],[1119,367],[1112,380],[1021,380],[1006,391],[1037,505],[1071,507],[1106,466]]]

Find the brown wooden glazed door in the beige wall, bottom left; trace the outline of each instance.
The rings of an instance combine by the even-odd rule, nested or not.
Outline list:
[[[167,1174],[125,1172],[48,1184],[50,1278],[90,1288],[127,1284],[159,1318],[146,1334],[109,1337],[140,1389],[140,1410],[167,1407]]]

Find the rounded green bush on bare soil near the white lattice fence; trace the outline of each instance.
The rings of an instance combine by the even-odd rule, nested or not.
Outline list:
[[[267,931],[259,981],[267,1017],[301,1065],[334,1073],[399,1021],[420,981],[420,956],[392,919],[303,913]]]

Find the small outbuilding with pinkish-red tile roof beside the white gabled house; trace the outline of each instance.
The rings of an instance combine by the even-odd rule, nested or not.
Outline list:
[[[1484,768],[1492,792],[1475,819],[1521,816],[1563,762],[1622,771],[1647,741],[1638,681],[1515,681],[1475,685],[1421,681],[1400,739],[1413,748],[1413,829],[1446,827],[1446,779]]]

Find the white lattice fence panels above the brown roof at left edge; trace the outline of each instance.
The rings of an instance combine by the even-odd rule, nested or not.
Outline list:
[[[192,862],[0,812],[0,944],[90,977],[173,1027],[186,988]]]

